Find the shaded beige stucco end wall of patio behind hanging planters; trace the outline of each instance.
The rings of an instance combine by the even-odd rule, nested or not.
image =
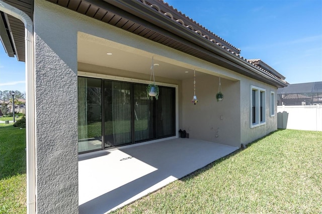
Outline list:
[[[190,138],[240,146],[240,99],[239,81],[221,78],[224,98],[216,100],[219,77],[196,74],[197,104],[193,97],[193,79],[183,81],[183,124],[182,130]]]

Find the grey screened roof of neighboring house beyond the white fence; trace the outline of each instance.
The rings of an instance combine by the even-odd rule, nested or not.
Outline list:
[[[322,82],[289,84],[287,87],[277,89],[278,94],[311,92],[322,92]]]

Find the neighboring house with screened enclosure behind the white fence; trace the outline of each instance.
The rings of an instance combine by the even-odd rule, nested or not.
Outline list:
[[[277,90],[278,105],[322,104],[322,82],[289,84]]]

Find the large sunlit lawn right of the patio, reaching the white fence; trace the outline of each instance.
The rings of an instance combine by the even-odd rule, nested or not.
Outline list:
[[[112,213],[321,213],[321,134],[274,132]]]

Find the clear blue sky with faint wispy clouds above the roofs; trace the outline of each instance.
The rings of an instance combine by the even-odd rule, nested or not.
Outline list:
[[[288,83],[322,81],[321,0],[164,1]],[[25,92],[25,63],[0,46],[0,90]]]

